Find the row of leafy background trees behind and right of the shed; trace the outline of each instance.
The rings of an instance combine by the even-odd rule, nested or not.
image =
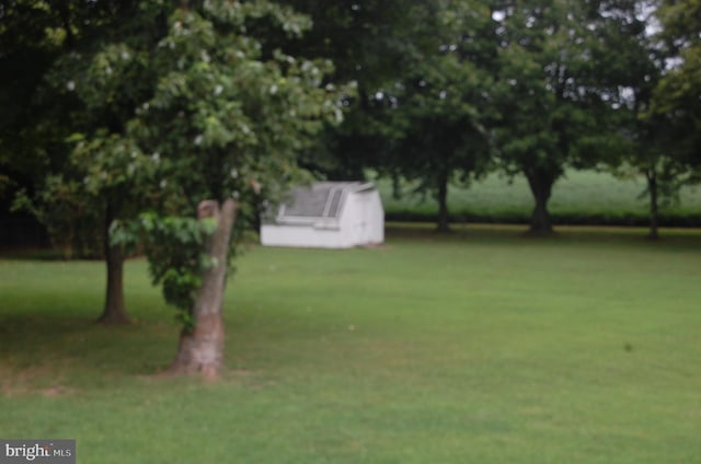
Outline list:
[[[341,78],[358,82],[325,173],[417,179],[441,230],[447,185],[492,171],[528,179],[533,232],[552,229],[548,201],[568,169],[644,175],[653,236],[660,199],[698,182],[699,2],[290,3],[321,24],[303,48],[342,57]]]

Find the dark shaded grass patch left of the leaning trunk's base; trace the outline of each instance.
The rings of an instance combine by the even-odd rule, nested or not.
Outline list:
[[[104,326],[71,315],[0,316],[0,371],[15,381],[69,384],[152,374],[171,360],[175,330],[154,323]]]

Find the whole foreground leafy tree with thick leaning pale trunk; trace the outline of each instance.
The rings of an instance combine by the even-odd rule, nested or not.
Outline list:
[[[344,90],[324,81],[331,63],[266,47],[249,30],[263,20],[290,36],[310,24],[263,1],[181,2],[148,58],[152,92],[123,138],[135,160],[159,164],[153,195],[161,210],[137,223],[153,278],[185,323],[176,372],[221,369],[232,230],[285,190],[299,174],[300,150],[343,117]]]

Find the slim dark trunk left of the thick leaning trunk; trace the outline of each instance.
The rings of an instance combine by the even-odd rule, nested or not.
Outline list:
[[[104,247],[107,265],[107,291],[105,308],[97,320],[103,324],[128,324],[129,316],[124,306],[124,253],[119,246],[110,244],[110,225],[116,219],[112,207],[107,206],[105,214]]]

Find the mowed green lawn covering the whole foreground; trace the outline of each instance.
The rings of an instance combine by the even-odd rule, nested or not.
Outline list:
[[[101,263],[0,260],[0,437],[87,463],[701,462],[701,233],[390,229],[386,246],[253,246],[216,383],[158,375],[172,311],[92,324]]]

